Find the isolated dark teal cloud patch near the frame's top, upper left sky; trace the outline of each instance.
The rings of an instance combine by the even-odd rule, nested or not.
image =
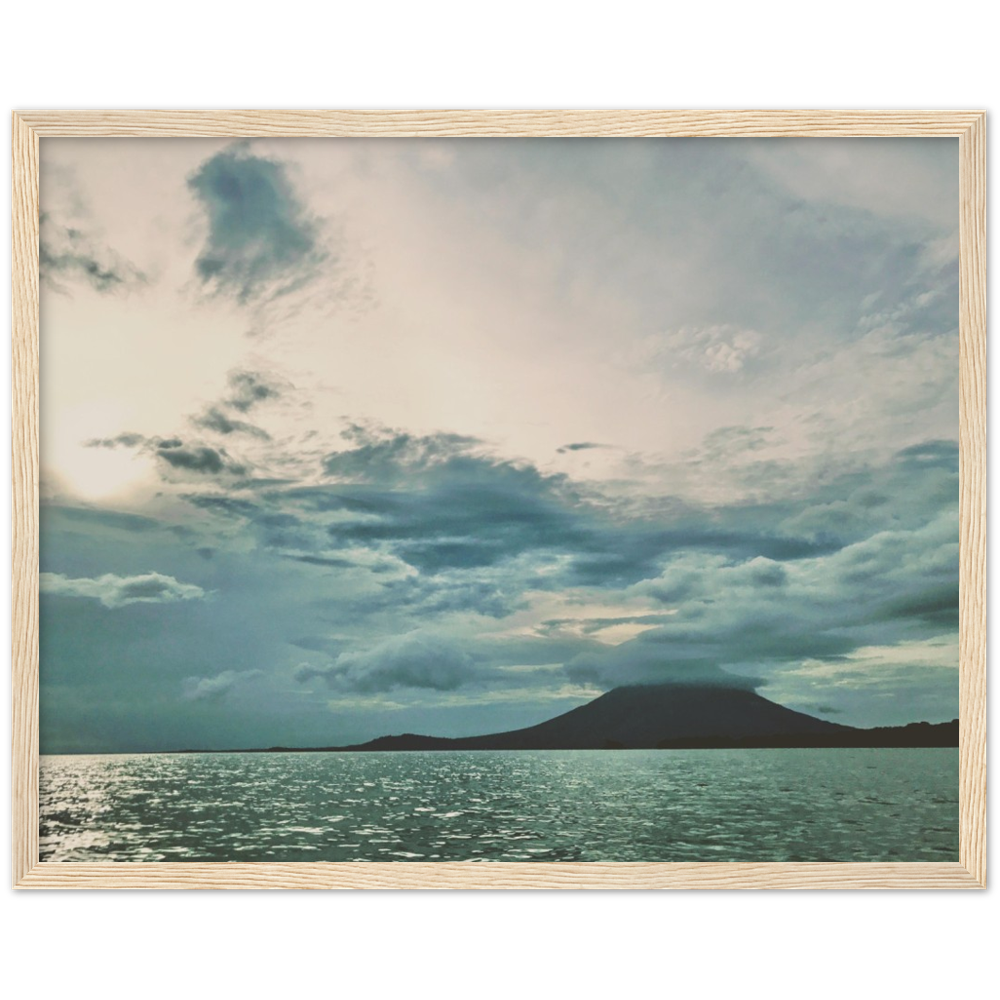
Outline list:
[[[323,259],[317,222],[283,164],[240,144],[206,160],[188,179],[208,220],[195,261],[202,284],[246,304],[301,286]]]

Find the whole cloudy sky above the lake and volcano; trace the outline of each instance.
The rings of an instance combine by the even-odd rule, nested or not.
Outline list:
[[[957,717],[957,157],[43,139],[42,752]]]

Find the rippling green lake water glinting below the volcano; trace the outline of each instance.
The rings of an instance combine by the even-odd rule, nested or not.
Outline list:
[[[957,861],[957,749],[42,756],[42,861]]]

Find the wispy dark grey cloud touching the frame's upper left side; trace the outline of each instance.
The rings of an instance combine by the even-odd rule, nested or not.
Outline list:
[[[38,219],[38,273],[42,283],[64,291],[61,281],[80,281],[95,291],[112,293],[144,284],[145,275],[110,247],[50,213]]]

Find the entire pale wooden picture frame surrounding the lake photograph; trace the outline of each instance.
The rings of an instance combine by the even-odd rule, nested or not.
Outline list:
[[[46,136],[952,136],[960,160],[960,853],[955,863],[39,863],[38,176]],[[960,110],[11,112],[11,885],[18,889],[986,886],[986,114]]]

